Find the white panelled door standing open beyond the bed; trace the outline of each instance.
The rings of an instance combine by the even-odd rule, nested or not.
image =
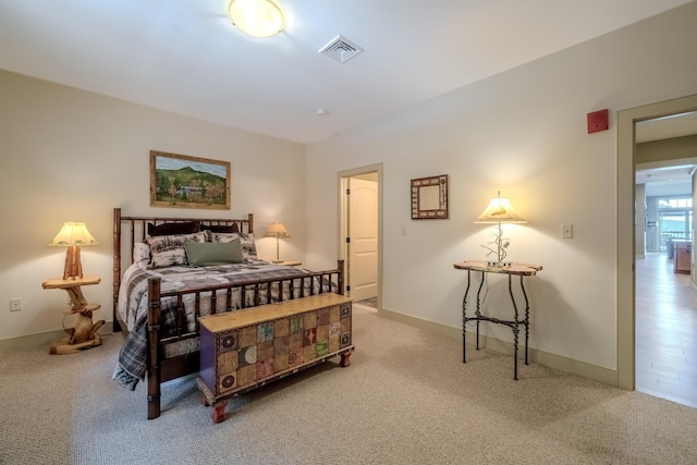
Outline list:
[[[348,180],[348,295],[378,296],[378,183]]]

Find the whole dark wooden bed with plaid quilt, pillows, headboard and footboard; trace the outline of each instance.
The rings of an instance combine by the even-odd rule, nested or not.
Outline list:
[[[161,383],[199,371],[198,317],[343,295],[343,260],[322,271],[259,260],[252,213],[130,217],[114,208],[113,331],[126,335],[113,379],[130,390],[146,380],[148,419],[157,418]]]

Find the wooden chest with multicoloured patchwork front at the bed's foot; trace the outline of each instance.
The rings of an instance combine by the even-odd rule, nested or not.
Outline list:
[[[222,421],[230,399],[341,355],[350,365],[351,299],[326,293],[199,318],[204,403]]]

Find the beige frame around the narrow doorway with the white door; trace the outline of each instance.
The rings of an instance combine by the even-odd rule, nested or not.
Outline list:
[[[337,184],[339,186],[339,218],[338,218],[338,232],[339,237],[337,241],[339,250],[337,255],[342,260],[345,260],[345,276],[348,276],[348,254],[346,254],[346,234],[347,234],[347,218],[348,209],[346,206],[345,186],[346,181],[350,178],[359,176],[362,174],[377,173],[378,175],[378,313],[382,309],[382,163],[369,164],[366,167],[354,168],[351,170],[344,170],[337,173]]]

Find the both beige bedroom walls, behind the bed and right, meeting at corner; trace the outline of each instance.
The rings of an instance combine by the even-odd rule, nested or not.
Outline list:
[[[157,148],[230,159],[233,212],[280,216],[288,246],[307,245],[289,258],[314,268],[339,250],[337,173],[382,163],[382,305],[453,329],[465,274],[452,264],[485,258],[489,231],[473,220],[501,189],[529,221],[506,230],[509,258],[545,266],[529,281],[530,345],[615,370],[616,221],[631,215],[617,211],[615,114],[697,93],[695,24],[692,2],[306,148],[0,72],[0,339],[60,328],[63,297],[40,283],[62,269],[62,252],[44,244],[69,219],[102,243],[83,261],[105,281],[85,292],[108,306],[111,208],[150,211],[147,154]],[[586,114],[603,108],[610,130],[587,134]],[[450,175],[450,219],[412,221],[409,180],[437,174]],[[573,240],[560,238],[563,223]],[[25,310],[10,314],[11,297]],[[504,297],[491,279],[491,308],[508,308]]]

